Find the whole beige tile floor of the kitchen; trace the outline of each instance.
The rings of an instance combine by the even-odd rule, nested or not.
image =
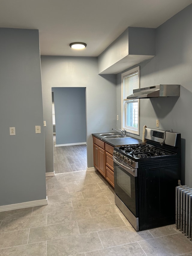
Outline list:
[[[175,225],[136,232],[98,172],[46,178],[48,205],[0,212],[1,256],[192,255]]]

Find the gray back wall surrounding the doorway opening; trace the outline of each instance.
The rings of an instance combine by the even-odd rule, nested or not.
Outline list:
[[[52,87],[86,87],[87,166],[93,167],[92,133],[116,127],[116,76],[98,75],[95,57],[41,56],[46,172],[53,171]]]

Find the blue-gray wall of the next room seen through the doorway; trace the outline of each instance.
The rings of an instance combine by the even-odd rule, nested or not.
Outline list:
[[[56,144],[86,142],[85,88],[55,87]]]

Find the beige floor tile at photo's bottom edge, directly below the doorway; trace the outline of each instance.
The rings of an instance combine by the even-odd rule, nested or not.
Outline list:
[[[101,245],[99,236],[97,232],[94,232],[47,241],[47,256],[68,256],[74,254],[83,256],[81,254],[85,251],[94,251],[101,248],[103,246]]]

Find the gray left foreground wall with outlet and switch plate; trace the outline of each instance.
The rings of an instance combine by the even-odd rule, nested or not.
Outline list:
[[[45,199],[38,30],[0,28],[0,119],[0,206]]]

